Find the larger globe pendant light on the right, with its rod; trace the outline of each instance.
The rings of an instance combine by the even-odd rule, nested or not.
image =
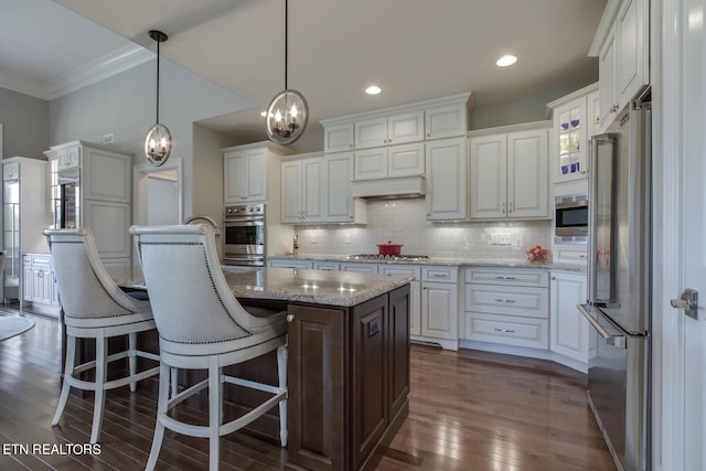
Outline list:
[[[288,3],[289,1],[285,0],[285,89],[272,98],[265,115],[267,138],[280,144],[288,144],[299,139],[309,121],[309,105],[303,95],[287,87]]]

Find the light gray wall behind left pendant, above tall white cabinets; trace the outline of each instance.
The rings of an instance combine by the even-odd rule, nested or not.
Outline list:
[[[184,159],[184,214],[189,215],[195,194],[194,169],[201,168],[202,158],[213,158],[194,153],[193,122],[252,104],[171,61],[161,60],[160,67],[160,122],[172,132],[172,157]],[[133,152],[136,162],[141,162],[145,135],[154,120],[156,64],[150,61],[52,100],[49,140],[50,144],[74,139],[101,143],[104,135],[114,133],[110,146]]]

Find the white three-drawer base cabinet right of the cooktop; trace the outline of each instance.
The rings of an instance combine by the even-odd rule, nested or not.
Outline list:
[[[467,268],[463,338],[549,347],[548,274],[535,269]]]

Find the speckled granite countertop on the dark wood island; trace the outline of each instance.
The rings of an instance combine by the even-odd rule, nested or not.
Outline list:
[[[228,287],[236,298],[272,299],[351,307],[414,281],[404,275],[371,275],[349,271],[301,270],[292,268],[223,267]],[[113,271],[124,288],[145,289],[137,268]]]

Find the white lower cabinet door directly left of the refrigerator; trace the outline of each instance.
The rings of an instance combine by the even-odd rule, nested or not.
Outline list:
[[[576,309],[586,302],[586,274],[552,271],[549,347],[555,361],[586,371],[595,351],[596,334]],[[570,360],[579,362],[578,364]]]

